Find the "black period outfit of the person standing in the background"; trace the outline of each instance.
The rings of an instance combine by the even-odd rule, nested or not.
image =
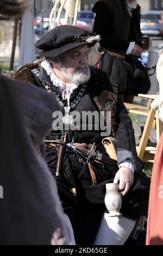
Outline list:
[[[99,68],[116,82],[119,94],[147,93],[151,83],[146,68],[137,57],[126,54],[130,42],[141,46],[140,6],[132,10],[131,17],[126,0],[97,1],[92,11],[96,13],[93,31],[101,35],[100,44],[104,49]]]

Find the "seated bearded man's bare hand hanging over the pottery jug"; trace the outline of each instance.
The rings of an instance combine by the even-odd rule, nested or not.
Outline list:
[[[133,185],[134,173],[127,167],[121,167],[115,175],[114,183],[119,182],[119,190],[125,196]]]

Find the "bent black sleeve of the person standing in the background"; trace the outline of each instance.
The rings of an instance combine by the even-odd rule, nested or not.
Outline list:
[[[117,38],[114,34],[112,26],[114,13],[103,2],[96,3],[93,11],[96,13],[93,31],[101,35],[101,45],[106,49],[116,48],[127,51],[129,42]]]

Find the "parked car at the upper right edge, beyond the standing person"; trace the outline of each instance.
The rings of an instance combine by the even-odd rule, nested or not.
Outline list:
[[[163,11],[144,11],[141,14],[141,32],[144,35],[161,36],[163,39]]]

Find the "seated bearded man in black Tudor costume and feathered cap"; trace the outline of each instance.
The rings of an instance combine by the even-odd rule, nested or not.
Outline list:
[[[87,49],[98,41],[98,35],[85,29],[56,27],[36,42],[43,61],[22,66],[15,75],[16,79],[32,82],[54,97],[55,119],[46,136],[45,159],[57,181],[77,245],[93,245],[95,241],[105,210],[106,183],[119,183],[123,196],[121,212],[126,216],[124,229],[128,217],[135,221],[147,210],[144,202],[148,192],[138,175],[143,166],[136,155],[134,130],[127,110],[117,95],[115,83],[88,63]],[[106,133],[102,133],[101,119],[83,120],[85,112],[105,113],[105,124],[108,124],[106,112],[111,113],[110,131],[106,133],[116,138],[117,162],[106,156],[102,147]],[[83,151],[81,147],[85,147]],[[88,148],[90,154],[84,155]],[[97,153],[108,162],[97,159]],[[106,244],[116,243],[108,240]]]

